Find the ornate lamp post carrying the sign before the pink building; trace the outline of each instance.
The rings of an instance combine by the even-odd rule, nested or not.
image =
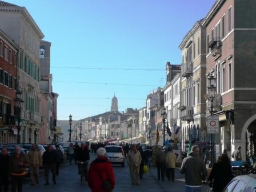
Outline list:
[[[208,90],[208,98],[210,100],[210,114],[211,114],[211,117],[213,117],[213,113],[214,113],[214,110],[213,110],[213,100],[215,98],[215,78],[213,75],[210,75],[208,77],[208,87],[207,87],[207,90]],[[214,163],[214,134],[211,133],[211,166],[213,166],[213,163]]]

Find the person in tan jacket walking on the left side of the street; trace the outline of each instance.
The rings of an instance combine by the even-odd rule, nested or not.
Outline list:
[[[27,154],[29,158],[30,185],[34,186],[35,182],[39,184],[39,167],[43,164],[41,151],[37,149],[37,145],[33,144],[31,150]]]

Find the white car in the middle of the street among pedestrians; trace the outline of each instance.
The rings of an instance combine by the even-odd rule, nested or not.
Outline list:
[[[119,145],[106,145],[106,157],[113,164],[120,164],[122,167],[125,166],[125,153],[123,152],[122,146]]]

